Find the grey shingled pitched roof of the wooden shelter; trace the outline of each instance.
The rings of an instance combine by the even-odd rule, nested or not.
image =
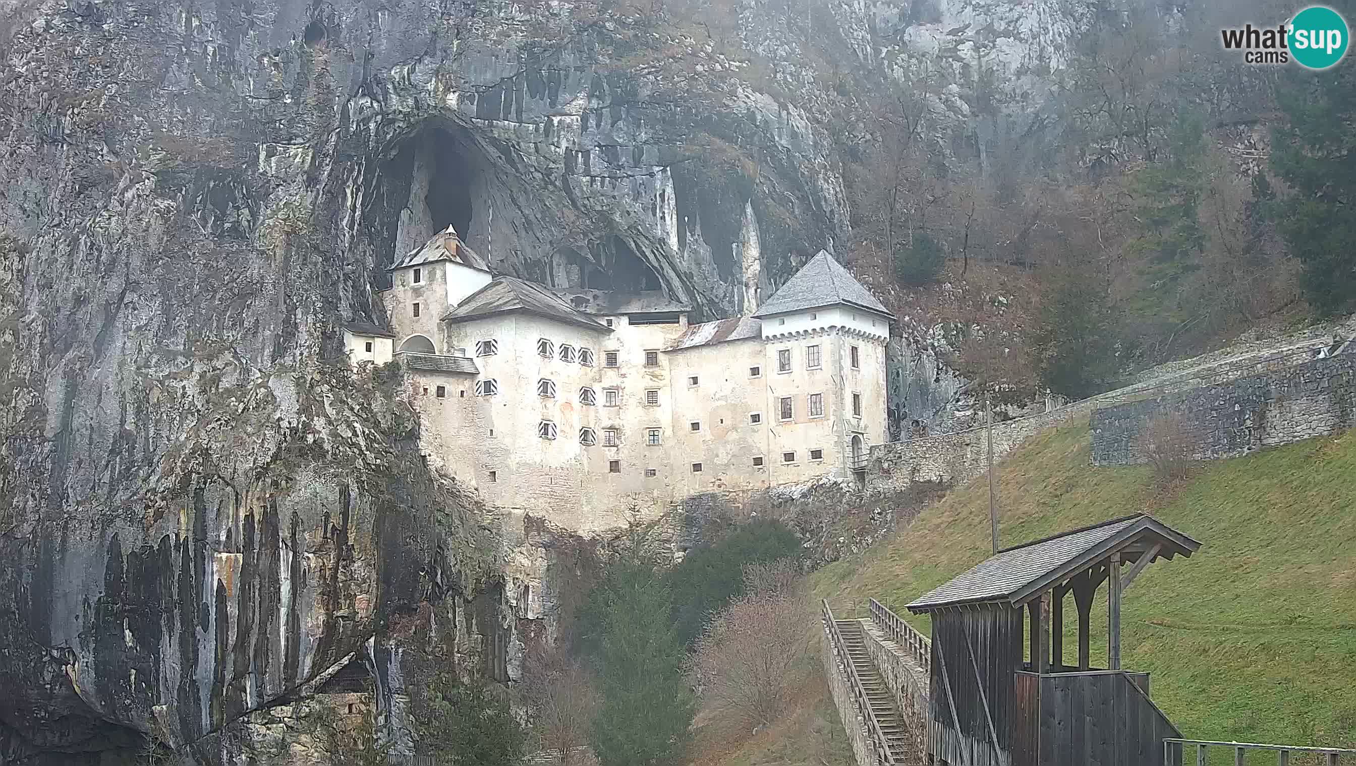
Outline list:
[[[1159,556],[1165,559],[1191,556],[1200,548],[1195,540],[1144,514],[1112,519],[999,550],[964,575],[928,591],[907,609],[929,611],[961,603],[1020,603],[1032,588],[1044,592],[1047,584],[1083,571],[1098,556],[1140,536],[1162,542]]]

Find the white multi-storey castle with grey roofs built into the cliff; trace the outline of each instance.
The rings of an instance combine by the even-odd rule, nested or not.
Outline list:
[[[350,359],[399,359],[430,462],[506,511],[599,531],[701,492],[850,477],[887,438],[894,317],[827,252],[704,324],[659,291],[494,275],[450,226],[391,273],[391,329],[346,325]]]

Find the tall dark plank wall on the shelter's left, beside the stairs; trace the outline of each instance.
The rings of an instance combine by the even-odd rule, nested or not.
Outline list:
[[[1021,663],[1021,610],[984,607],[933,614],[928,743],[938,762],[1013,763],[1013,685]]]

